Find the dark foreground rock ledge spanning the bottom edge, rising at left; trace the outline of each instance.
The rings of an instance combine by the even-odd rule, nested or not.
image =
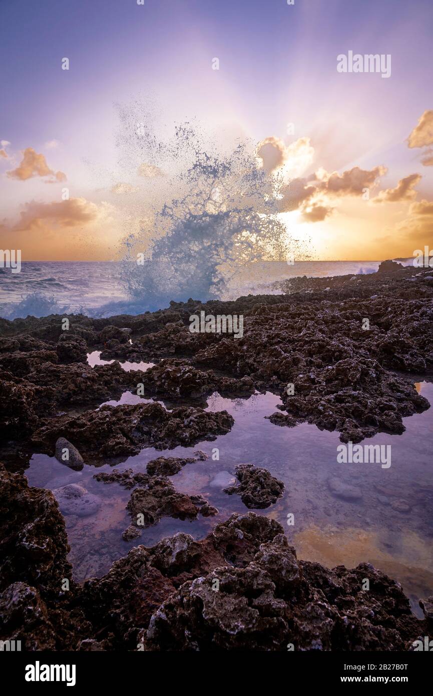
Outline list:
[[[3,467],[0,479],[1,512],[15,511],[0,536],[0,637],[26,650],[400,650],[427,635],[431,598],[417,619],[370,564],[298,560],[281,525],[253,512],[200,541],[179,532],[135,546],[77,585],[52,493]]]

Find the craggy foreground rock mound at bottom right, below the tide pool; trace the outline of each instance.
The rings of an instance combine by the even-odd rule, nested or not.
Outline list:
[[[372,566],[328,571],[298,561],[280,534],[246,567],[184,583],[139,637],[149,650],[399,650],[416,625],[400,586]]]

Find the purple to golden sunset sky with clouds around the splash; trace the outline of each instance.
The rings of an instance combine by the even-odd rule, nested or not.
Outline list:
[[[308,258],[433,248],[431,0],[0,9],[0,246],[22,260],[118,258],[155,191],[173,195],[157,161],[125,149],[121,115],[141,108],[159,133],[194,119],[221,147],[255,143]],[[360,72],[368,54],[384,63]]]

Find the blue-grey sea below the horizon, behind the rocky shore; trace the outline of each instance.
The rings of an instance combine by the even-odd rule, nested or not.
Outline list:
[[[408,260],[409,262],[409,260]],[[214,294],[221,299],[236,299],[246,294],[275,294],[274,283],[296,276],[327,277],[375,273],[379,261],[260,261],[239,269],[223,289]],[[49,261],[22,263],[20,273],[0,268],[0,317],[43,317],[52,313],[83,313],[90,317],[115,314],[139,314],[168,306],[168,297],[185,301],[190,296],[205,300],[195,290],[194,276],[187,292],[161,299],[137,290],[129,283],[119,262]],[[143,284],[144,287],[144,284]]]

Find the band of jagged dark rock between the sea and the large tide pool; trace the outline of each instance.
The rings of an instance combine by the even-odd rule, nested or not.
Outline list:
[[[283,294],[190,299],[136,317],[72,315],[68,331],[60,315],[2,319],[3,437],[31,434],[49,414],[125,389],[199,402],[214,391],[248,397],[270,389],[283,401],[284,413],[270,418],[276,425],[310,422],[337,430],[343,442],[401,434],[402,419],[428,407],[409,375],[433,372],[431,275],[384,262],[377,274],[292,278],[279,283]],[[243,314],[243,338],[191,333],[189,316],[201,310]],[[161,361],[146,371],[118,362],[92,368],[86,351],[94,349],[115,361]]]

